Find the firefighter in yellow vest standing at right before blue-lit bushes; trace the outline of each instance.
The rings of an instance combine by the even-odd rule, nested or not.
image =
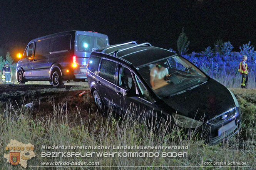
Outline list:
[[[249,73],[249,68],[246,63],[247,56],[243,55],[243,60],[239,64],[239,69],[238,71],[242,75],[242,82],[241,82],[241,89],[247,89],[247,82],[248,82],[248,73]]]

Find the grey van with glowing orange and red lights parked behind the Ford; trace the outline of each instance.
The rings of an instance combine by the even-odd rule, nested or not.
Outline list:
[[[65,31],[30,41],[17,63],[16,78],[50,81],[60,87],[70,80],[85,81],[92,51],[109,45],[107,35],[94,31]]]

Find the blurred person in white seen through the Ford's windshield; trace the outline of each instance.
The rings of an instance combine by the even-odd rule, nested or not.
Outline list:
[[[157,63],[150,71],[150,84],[152,89],[158,89],[167,85],[165,78],[169,76],[167,64]]]

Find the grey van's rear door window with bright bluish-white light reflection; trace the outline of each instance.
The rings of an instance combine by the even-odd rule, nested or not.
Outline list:
[[[93,36],[77,35],[77,49],[79,51],[92,51]]]

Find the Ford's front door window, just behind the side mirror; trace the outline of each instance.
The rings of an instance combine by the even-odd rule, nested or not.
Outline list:
[[[136,90],[130,69],[121,66],[119,68],[119,86],[127,90]]]

